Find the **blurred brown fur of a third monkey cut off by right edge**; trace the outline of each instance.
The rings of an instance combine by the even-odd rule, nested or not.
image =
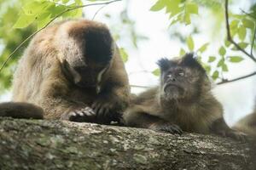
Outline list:
[[[233,128],[256,137],[256,105],[253,113],[243,117]]]

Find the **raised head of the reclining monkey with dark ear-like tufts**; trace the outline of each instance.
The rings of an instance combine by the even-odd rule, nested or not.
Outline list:
[[[178,59],[160,59],[160,98],[166,101],[198,99],[211,88],[207,72],[194,58],[185,54]]]

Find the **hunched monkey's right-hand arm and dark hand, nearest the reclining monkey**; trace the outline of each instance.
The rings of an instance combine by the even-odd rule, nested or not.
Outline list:
[[[125,66],[119,53],[113,57],[113,64],[106,72],[102,82],[102,90],[92,104],[100,122],[119,122],[120,113],[125,111],[130,100],[130,86]]]

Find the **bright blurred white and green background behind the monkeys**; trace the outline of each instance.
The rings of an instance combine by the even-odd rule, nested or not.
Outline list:
[[[0,0],[1,65],[20,42],[49,22],[54,14],[58,14],[56,8],[48,8],[47,13],[37,15],[35,20],[35,15],[44,10],[41,8],[38,12],[30,4],[32,2],[37,2],[35,4],[40,7],[44,0]],[[106,1],[48,2],[56,3],[53,4],[54,7],[61,5],[67,7],[75,3],[81,5]],[[171,2],[172,5],[165,6],[166,2]],[[172,8],[175,2],[181,8],[177,14],[174,13],[176,9]],[[255,0],[233,0],[229,3],[231,34],[234,40],[242,42],[243,48],[249,52],[255,20],[242,11],[256,18],[255,3]],[[27,14],[29,11],[27,8],[34,10]],[[190,11],[189,16],[186,11]],[[181,17],[182,14],[184,17]],[[101,21],[110,28],[125,61],[133,93],[143,92],[158,83],[159,71],[155,64],[158,59],[161,57],[171,59],[182,55],[183,52],[195,51],[206,66],[209,76],[212,77],[213,93],[224,105],[224,117],[228,124],[232,125],[242,116],[253,111],[256,76],[214,85],[214,82],[230,80],[256,71],[256,63],[253,60],[225,41],[224,1],[123,0],[103,6],[83,8],[63,17],[81,17],[81,15],[88,20]],[[26,45],[27,43],[15,53],[8,65],[0,72],[0,101],[11,99],[12,74]]]

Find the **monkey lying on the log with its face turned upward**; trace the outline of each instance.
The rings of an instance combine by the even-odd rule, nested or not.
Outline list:
[[[160,59],[160,85],[132,99],[125,111],[126,126],[178,133],[215,133],[235,139],[244,134],[224,122],[223,107],[211,92],[207,72],[194,58]]]

